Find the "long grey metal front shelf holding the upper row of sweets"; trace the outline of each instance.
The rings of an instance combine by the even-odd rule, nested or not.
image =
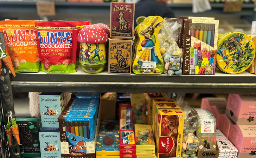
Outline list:
[[[12,75],[11,75],[12,76]],[[103,71],[87,74],[18,73],[11,77],[13,92],[165,92],[165,93],[256,93],[256,75],[113,75]]]

